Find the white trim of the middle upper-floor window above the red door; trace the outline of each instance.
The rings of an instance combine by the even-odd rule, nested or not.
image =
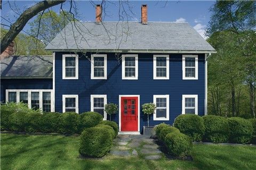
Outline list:
[[[135,77],[125,77],[125,57],[135,57]],[[138,80],[138,54],[122,55],[122,80]]]

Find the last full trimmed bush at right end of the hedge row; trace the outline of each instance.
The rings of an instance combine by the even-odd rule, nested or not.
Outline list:
[[[252,139],[252,123],[241,117],[228,118],[230,129],[229,141],[232,143],[249,143]]]

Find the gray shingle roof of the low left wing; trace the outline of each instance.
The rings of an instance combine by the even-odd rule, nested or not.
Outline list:
[[[52,78],[52,56],[11,56],[1,62],[1,79]]]

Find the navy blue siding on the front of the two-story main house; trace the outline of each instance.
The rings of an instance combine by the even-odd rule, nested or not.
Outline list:
[[[62,80],[62,54],[55,54],[55,111],[62,112],[62,95],[78,95],[79,113],[90,111],[90,95],[107,95],[107,102],[119,102],[119,95],[140,95],[140,106],[153,102],[153,95],[170,95],[170,121],[181,114],[182,95],[198,95],[198,115],[204,115],[204,54],[198,56],[198,80],[182,80],[182,54],[170,54],[170,79],[153,80],[153,54],[139,54],[138,80],[122,80],[122,64],[114,53],[107,54],[107,80],[91,80],[91,63],[79,54],[78,80]],[[90,54],[87,53],[90,57]],[[118,113],[112,120],[118,123]],[[146,116],[140,111],[140,131],[146,125]]]

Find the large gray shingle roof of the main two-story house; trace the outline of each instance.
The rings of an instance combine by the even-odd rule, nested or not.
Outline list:
[[[189,23],[178,22],[70,22],[46,49],[215,51]]]

